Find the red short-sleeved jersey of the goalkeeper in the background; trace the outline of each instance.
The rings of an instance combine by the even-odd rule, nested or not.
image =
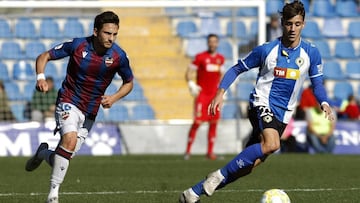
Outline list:
[[[224,62],[224,56],[219,53],[212,55],[205,51],[195,56],[191,67],[197,71],[197,84],[201,87],[200,94],[215,95],[224,70]]]

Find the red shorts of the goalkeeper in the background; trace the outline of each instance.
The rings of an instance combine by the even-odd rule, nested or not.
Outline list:
[[[213,98],[214,98],[213,95],[201,94],[201,93],[199,94],[199,96],[195,100],[195,110],[194,110],[195,120],[198,121],[219,120],[220,112],[217,112],[216,115],[208,114],[208,106]]]

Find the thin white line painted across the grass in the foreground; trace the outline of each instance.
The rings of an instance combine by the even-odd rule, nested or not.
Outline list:
[[[248,190],[219,190],[218,192],[264,192],[266,189],[248,189]],[[326,191],[355,191],[360,188],[292,188],[283,189],[286,192],[326,192]],[[102,191],[102,192],[61,192],[60,195],[116,195],[116,194],[162,194],[162,193],[181,193],[180,190],[137,190],[137,191]],[[0,197],[16,196],[41,196],[47,193],[0,193]]]

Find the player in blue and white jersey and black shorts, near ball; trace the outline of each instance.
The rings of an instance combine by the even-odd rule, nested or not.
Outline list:
[[[318,49],[300,37],[305,26],[304,5],[293,1],[284,5],[281,14],[283,34],[278,39],[254,48],[224,75],[216,97],[209,105],[215,115],[223,103],[224,92],[242,72],[259,67],[256,85],[250,96],[249,120],[255,131],[247,147],[223,168],[185,190],[181,203],[193,203],[200,195],[211,196],[215,190],[249,174],[255,166],[280,148],[283,133],[294,111],[304,80],[309,76],[314,94],[325,116],[333,120],[323,86],[322,62]]]

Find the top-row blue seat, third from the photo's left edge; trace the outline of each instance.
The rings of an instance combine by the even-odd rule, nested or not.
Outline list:
[[[57,21],[53,18],[43,18],[40,23],[40,37],[56,39],[62,37]]]

